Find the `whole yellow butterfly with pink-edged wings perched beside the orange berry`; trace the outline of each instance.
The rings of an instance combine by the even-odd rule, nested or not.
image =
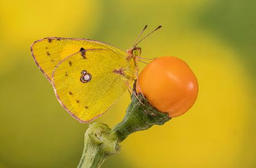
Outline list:
[[[47,37],[35,41],[31,53],[61,106],[81,123],[88,123],[131,89],[141,55],[137,45],[148,36],[136,43],[141,34],[126,52],[96,40]]]

